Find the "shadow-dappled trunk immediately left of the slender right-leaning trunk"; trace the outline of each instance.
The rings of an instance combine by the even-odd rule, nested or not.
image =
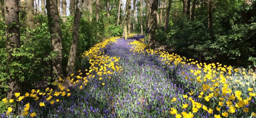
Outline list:
[[[53,79],[63,77],[62,71],[62,33],[58,16],[57,0],[46,0],[49,31],[51,34],[52,51],[57,52],[55,58],[51,59]]]

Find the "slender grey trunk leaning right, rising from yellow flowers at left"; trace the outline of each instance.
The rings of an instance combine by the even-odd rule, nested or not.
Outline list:
[[[82,15],[82,7],[83,7],[83,0],[77,0],[77,7],[75,10],[75,17],[74,17],[74,23],[73,23],[73,36],[72,36],[73,39],[70,47],[70,53],[69,53],[68,65],[67,65],[67,76],[70,76],[70,74],[74,72],[78,38],[79,38],[79,23]]]

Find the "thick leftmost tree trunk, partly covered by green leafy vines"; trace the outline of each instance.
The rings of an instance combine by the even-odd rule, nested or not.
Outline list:
[[[14,48],[20,47],[20,33],[19,33],[19,0],[5,0],[4,1],[4,16],[6,27],[6,49],[8,52],[7,70],[8,64],[12,59],[11,53]],[[13,25],[13,22],[16,25]],[[10,76],[7,80],[8,91],[7,97],[13,98],[14,92],[21,91],[21,84],[19,79],[14,76]]]

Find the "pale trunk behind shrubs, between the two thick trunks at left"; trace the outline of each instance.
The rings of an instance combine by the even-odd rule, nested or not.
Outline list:
[[[34,28],[34,0],[28,0],[27,4],[27,23],[29,28]]]

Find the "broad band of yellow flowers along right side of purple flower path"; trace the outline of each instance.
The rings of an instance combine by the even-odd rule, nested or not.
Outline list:
[[[133,41],[129,44],[133,45],[131,51],[144,53],[145,45],[142,42]],[[218,107],[214,109],[223,112],[220,112],[221,115],[214,114],[215,118],[221,118],[221,116],[228,117],[228,114],[233,114],[236,110],[240,113],[249,112],[250,106],[248,105],[253,97],[256,96],[255,90],[253,89],[253,86],[255,86],[256,83],[256,74],[252,69],[248,71],[246,71],[246,69],[232,69],[231,66],[227,67],[224,65],[222,67],[219,63],[202,64],[198,63],[198,61],[193,61],[194,59],[186,59],[186,57],[180,57],[177,54],[169,54],[165,51],[146,49],[146,52],[158,55],[159,60],[168,65],[173,62],[175,65],[181,64],[182,67],[188,67],[189,65],[196,67],[196,69],[183,71],[181,75],[183,77],[182,79],[189,79],[193,85],[197,85],[196,89],[189,92],[190,97],[188,97],[187,94],[183,95],[185,99],[188,99],[192,103],[192,112],[181,112],[181,114],[178,114],[177,109],[173,107],[171,108],[170,113],[172,115],[175,114],[176,118],[181,118],[182,116],[185,118],[192,118],[194,117],[193,113],[196,113],[200,108],[209,114],[213,113],[212,108],[208,108],[200,102],[208,104],[210,107],[215,106],[214,104],[218,105]],[[194,96],[195,92],[198,92],[199,95]],[[198,97],[198,102],[195,102],[195,98],[193,97]],[[238,101],[235,103],[233,101],[236,98]],[[214,104],[210,103],[210,100],[212,100]],[[171,101],[176,102],[176,98],[173,98]],[[182,109],[188,107],[188,104],[182,105]],[[225,110],[226,106],[229,107],[228,110]],[[256,113],[252,112],[251,116],[256,117]]]

